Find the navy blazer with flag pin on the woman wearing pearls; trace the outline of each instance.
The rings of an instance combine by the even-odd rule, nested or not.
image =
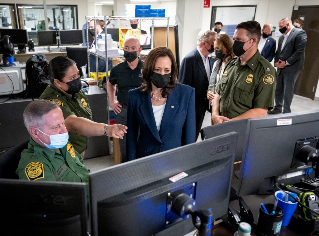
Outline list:
[[[129,90],[126,155],[129,161],[175,147],[194,143],[195,91],[177,83],[167,95],[159,131],[150,93],[140,88]]]

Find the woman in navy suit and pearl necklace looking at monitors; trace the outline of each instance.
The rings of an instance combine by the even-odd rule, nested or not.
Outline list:
[[[154,48],[143,64],[143,83],[128,93],[126,152],[129,161],[195,140],[195,89],[178,83],[167,47]]]

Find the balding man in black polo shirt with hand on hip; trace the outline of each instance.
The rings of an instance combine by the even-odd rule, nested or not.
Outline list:
[[[124,41],[125,61],[117,64],[111,69],[108,80],[108,98],[110,106],[116,114],[116,123],[126,125],[127,119],[127,94],[130,89],[141,86],[143,81],[141,69],[143,61],[138,58],[142,51],[140,41],[137,37],[128,37]],[[115,100],[116,85],[117,100]],[[126,136],[120,141],[121,162],[126,161]]]

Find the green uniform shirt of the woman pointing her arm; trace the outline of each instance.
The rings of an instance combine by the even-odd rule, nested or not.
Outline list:
[[[64,119],[69,115],[76,115],[92,121],[91,108],[83,90],[71,96],[63,93],[51,83],[39,99],[50,100],[58,104],[62,109]],[[69,141],[78,153],[83,153],[87,148],[88,138],[86,136],[69,132]]]

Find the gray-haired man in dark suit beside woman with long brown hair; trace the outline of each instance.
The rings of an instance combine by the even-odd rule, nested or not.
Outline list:
[[[208,57],[214,51],[216,32],[202,30],[197,35],[197,48],[183,59],[178,80],[195,88],[196,138],[199,135],[206,110],[209,111],[209,100],[206,97],[212,60]]]

